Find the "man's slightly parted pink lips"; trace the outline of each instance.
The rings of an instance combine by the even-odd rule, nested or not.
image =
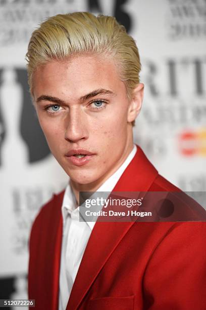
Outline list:
[[[79,155],[79,157],[77,157]],[[86,149],[78,148],[78,149],[71,149],[66,153],[66,158],[70,163],[75,166],[82,166],[87,164],[95,153],[89,152]]]

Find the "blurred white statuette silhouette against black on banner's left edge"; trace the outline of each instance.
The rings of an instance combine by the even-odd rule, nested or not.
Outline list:
[[[19,126],[23,94],[15,70],[4,70],[2,80],[0,103],[6,124],[6,137],[1,149],[2,168],[13,171],[17,165],[23,167],[28,162],[28,149],[20,135]]]

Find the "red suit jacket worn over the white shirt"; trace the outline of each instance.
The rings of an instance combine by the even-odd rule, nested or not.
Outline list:
[[[137,152],[113,191],[179,191]],[[30,236],[29,298],[57,310],[64,191],[35,219]],[[96,222],[67,310],[205,310],[206,223]]]

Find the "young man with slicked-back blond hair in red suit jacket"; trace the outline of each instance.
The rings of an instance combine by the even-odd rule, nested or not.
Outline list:
[[[179,191],[133,144],[133,38],[113,17],[57,15],[33,32],[27,61],[40,126],[70,177],[32,227],[36,309],[204,309],[205,223],[79,221],[80,191]]]

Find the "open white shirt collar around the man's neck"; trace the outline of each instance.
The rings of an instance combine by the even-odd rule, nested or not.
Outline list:
[[[132,151],[129,153],[128,157],[124,161],[124,163],[118,168],[118,170],[111,175],[96,191],[109,191],[111,192],[121,175],[132,161],[137,151],[137,146],[134,144]],[[79,220],[79,207],[77,207],[76,198],[70,183],[66,186],[64,199],[62,203],[62,215],[63,215],[63,225],[65,224],[66,218],[68,214],[71,215],[73,219]],[[90,229],[92,230],[95,222],[86,222]]]

